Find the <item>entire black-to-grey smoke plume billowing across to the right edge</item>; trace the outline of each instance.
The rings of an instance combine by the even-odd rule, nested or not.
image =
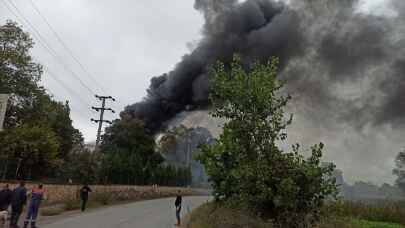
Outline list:
[[[290,140],[324,141],[326,158],[349,180],[392,180],[392,160],[405,145],[405,4],[393,0],[393,12],[378,16],[359,4],[196,0],[203,39],[125,112],[156,131],[187,105],[207,102],[207,71],[217,60],[238,53],[249,64],[278,56],[296,115]]]

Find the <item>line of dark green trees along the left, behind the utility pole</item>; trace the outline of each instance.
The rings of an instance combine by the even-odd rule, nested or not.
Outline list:
[[[15,22],[0,25],[0,93],[10,94],[0,132],[0,178],[93,184],[187,186],[189,168],[166,166],[143,123],[122,116],[98,151],[86,149],[70,106],[40,86],[34,42]]]

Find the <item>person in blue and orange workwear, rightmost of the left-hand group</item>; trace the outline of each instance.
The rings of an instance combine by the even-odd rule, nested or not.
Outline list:
[[[39,207],[44,198],[44,188],[42,184],[34,187],[31,191],[31,201],[28,207],[27,217],[25,217],[24,228],[28,227],[31,222],[31,228],[36,228],[36,220],[38,217]]]

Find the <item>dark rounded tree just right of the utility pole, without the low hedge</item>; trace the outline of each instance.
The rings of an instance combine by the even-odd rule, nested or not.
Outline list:
[[[142,121],[122,116],[106,129],[102,138],[104,175],[114,183],[146,184],[163,162],[155,151],[153,136]]]

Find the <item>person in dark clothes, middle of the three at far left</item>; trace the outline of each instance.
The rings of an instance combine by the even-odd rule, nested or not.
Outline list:
[[[10,228],[18,228],[17,223],[26,203],[27,189],[25,188],[25,182],[20,181],[19,186],[13,190],[11,198]]]

